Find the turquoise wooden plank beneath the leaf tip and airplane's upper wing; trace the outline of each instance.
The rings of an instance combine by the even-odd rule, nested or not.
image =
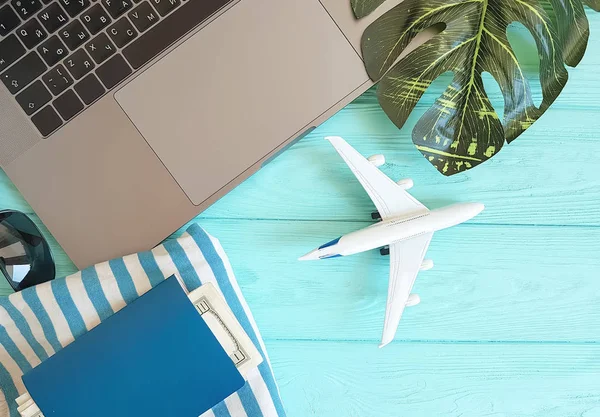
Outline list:
[[[421,109],[424,111],[425,109]],[[418,113],[418,112],[417,112]],[[373,204],[323,140],[344,136],[365,156],[383,153],[382,170],[413,178],[411,193],[431,208],[480,201],[474,221],[496,224],[600,225],[595,110],[555,109],[493,160],[446,178],[410,138],[418,114],[398,130],[371,97],[342,110],[205,212],[213,218],[363,220]]]

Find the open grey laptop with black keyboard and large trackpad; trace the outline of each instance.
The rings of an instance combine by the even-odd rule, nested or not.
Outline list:
[[[372,85],[360,37],[377,15],[0,0],[0,167],[78,267],[146,250]]]

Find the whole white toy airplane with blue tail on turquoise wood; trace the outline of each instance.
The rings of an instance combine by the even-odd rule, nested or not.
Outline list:
[[[406,192],[413,186],[412,180],[395,183],[377,168],[385,163],[383,155],[366,159],[340,137],[325,139],[335,147],[373,200],[378,210],[373,213],[373,218],[382,221],[319,246],[300,260],[335,258],[376,248],[382,248],[382,255],[389,254],[390,282],[379,345],[384,347],[394,339],[404,308],[421,301],[410,291],[419,271],[433,268],[432,261],[423,260],[433,232],[472,219],[484,206],[462,203],[429,211]]]

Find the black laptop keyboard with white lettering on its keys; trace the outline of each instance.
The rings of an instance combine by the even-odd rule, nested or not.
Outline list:
[[[232,0],[0,0],[0,78],[48,136]]]

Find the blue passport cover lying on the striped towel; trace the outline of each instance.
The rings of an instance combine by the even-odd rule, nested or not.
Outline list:
[[[23,375],[46,417],[198,417],[244,379],[175,277]]]

